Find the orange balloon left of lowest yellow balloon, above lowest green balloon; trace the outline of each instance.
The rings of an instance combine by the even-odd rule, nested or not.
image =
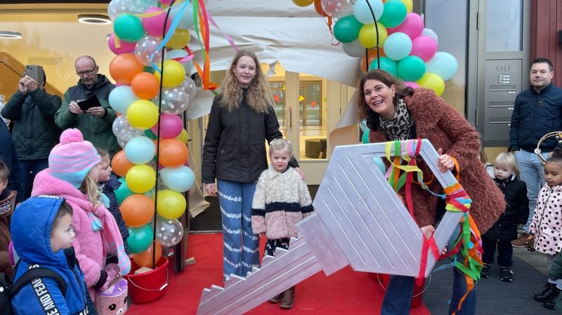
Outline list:
[[[154,217],[154,201],[143,194],[133,194],[119,206],[127,227],[142,227]]]

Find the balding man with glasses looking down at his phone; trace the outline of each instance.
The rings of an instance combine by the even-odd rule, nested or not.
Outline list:
[[[107,150],[112,158],[119,149],[117,138],[112,131],[116,113],[108,101],[115,85],[103,74],[98,74],[96,60],[90,56],[79,57],[74,62],[74,67],[80,79],[76,86],[68,88],[65,92],[63,105],[55,114],[55,123],[62,129],[78,128],[84,135],[84,140]],[[92,95],[96,95],[101,106],[82,110],[78,102]]]

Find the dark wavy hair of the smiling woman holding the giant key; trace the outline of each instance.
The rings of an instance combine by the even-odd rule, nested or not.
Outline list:
[[[378,80],[381,81],[385,86],[390,88],[391,86],[396,86],[396,95],[394,96],[393,104],[394,107],[398,106],[398,98],[404,98],[405,96],[411,96],[414,94],[414,89],[410,86],[405,86],[403,81],[396,79],[391,74],[384,70],[371,70],[363,75],[359,86],[357,88],[358,98],[357,98],[357,116],[358,119],[365,119],[367,121],[367,127],[371,130],[379,129],[379,114],[373,112],[367,101],[365,101],[365,93],[363,89],[365,88],[365,82],[367,80]]]

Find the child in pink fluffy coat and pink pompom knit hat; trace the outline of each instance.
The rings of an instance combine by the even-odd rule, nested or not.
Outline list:
[[[37,174],[32,196],[56,195],[70,203],[76,237],[72,243],[92,300],[95,290],[106,290],[119,274],[128,274],[119,228],[103,206],[96,185],[101,157],[80,130],[67,129],[48,156],[48,168]]]

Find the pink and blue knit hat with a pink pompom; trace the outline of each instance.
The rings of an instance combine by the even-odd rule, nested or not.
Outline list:
[[[84,140],[80,130],[71,128],[60,135],[60,143],[48,155],[48,168],[54,177],[79,188],[93,166],[101,162],[91,142]]]

